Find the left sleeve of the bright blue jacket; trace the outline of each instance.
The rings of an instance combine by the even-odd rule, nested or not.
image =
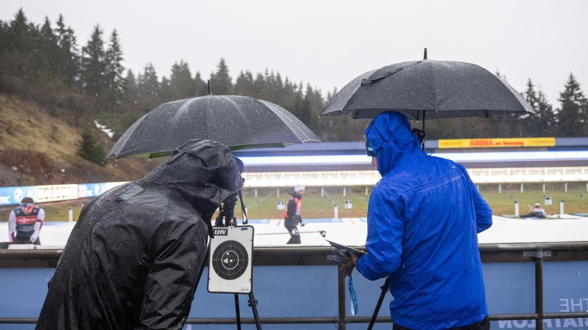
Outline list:
[[[404,225],[397,203],[385,191],[374,189],[368,206],[366,250],[357,261],[358,271],[368,280],[392,274],[400,265]]]

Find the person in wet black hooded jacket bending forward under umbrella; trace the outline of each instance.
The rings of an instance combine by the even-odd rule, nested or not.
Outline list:
[[[189,140],[143,179],[86,203],[36,329],[181,329],[211,217],[242,186],[226,146]]]

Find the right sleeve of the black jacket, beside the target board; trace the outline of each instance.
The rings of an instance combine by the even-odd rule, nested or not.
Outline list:
[[[179,329],[188,318],[206,235],[196,225],[174,227],[149,271],[138,329]]]

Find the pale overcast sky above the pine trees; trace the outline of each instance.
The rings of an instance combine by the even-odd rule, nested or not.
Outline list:
[[[476,63],[524,90],[531,78],[554,107],[570,72],[588,92],[588,1],[3,0],[41,24],[61,13],[85,45],[97,23],[119,33],[125,66],[161,78],[183,59],[208,78],[225,58],[233,79],[266,68],[324,94],[381,66],[422,59]]]

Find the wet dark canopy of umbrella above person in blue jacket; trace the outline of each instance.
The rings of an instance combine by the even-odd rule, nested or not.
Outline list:
[[[532,113],[523,97],[488,70],[426,58],[363,73],[330,100],[320,116],[373,118],[397,111],[409,119]]]

